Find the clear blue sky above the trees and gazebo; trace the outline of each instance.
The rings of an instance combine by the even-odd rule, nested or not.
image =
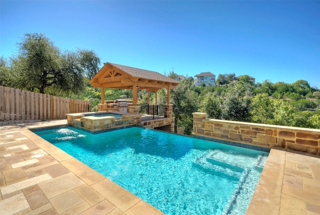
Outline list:
[[[37,32],[101,62],[320,88],[319,11],[320,1],[0,0],[0,55]]]

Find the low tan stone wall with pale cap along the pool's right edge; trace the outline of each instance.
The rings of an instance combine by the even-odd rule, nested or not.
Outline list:
[[[320,154],[320,129],[207,119],[203,112],[192,114],[193,135]]]

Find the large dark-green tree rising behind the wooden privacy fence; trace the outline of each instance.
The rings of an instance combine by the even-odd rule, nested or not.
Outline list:
[[[79,93],[84,89],[83,76],[91,78],[100,59],[93,51],[77,49],[61,53],[44,34],[25,34],[19,46],[15,68],[20,88],[44,93],[51,87],[57,91]]]

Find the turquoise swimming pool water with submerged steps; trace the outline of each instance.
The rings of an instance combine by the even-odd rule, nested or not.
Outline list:
[[[35,133],[166,214],[244,214],[268,155],[139,127]]]

